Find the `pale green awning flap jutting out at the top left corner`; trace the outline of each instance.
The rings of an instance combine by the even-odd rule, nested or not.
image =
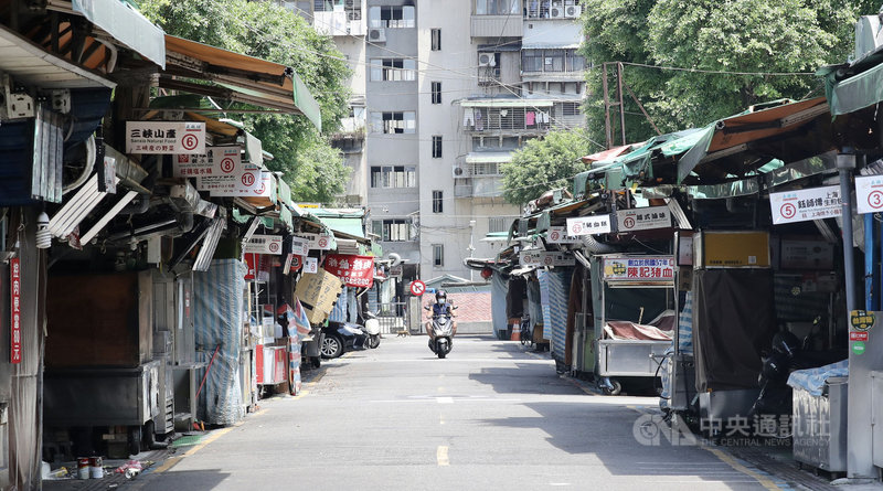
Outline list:
[[[141,15],[134,2],[71,0],[71,7],[130,50],[166,68],[166,33]]]

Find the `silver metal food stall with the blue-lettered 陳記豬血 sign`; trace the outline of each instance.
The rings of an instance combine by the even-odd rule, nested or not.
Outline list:
[[[615,377],[658,377],[664,352],[671,346],[672,340],[651,341],[651,340],[613,340],[604,338],[604,325],[610,320],[607,319],[607,293],[609,289],[667,289],[671,290],[671,308],[678,312],[678,284],[674,279],[674,258],[669,255],[598,255],[597,260],[602,261],[600,277],[597,285],[600,287],[600,317],[599,323],[595,327],[597,360],[595,373],[600,377],[599,385],[607,394],[617,394],[621,389],[621,384]],[[660,260],[668,266],[664,271],[670,271],[666,278],[628,278],[608,270],[607,265],[614,260]],[[613,267],[613,266],[611,266]],[[660,269],[663,270],[663,269]],[[663,273],[664,275],[664,273]],[[669,297],[669,293],[667,293]],[[640,320],[640,319],[639,319]],[[677,322],[674,324],[673,340],[677,343]]]

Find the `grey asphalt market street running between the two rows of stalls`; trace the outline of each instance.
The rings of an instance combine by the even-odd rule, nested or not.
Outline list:
[[[655,410],[656,398],[587,394],[555,373],[547,353],[519,343],[461,337],[438,360],[425,337],[387,335],[379,349],[349,353],[322,370],[301,396],[263,401],[240,426],[216,431],[177,465],[128,488],[773,485],[773,478],[758,481],[756,472],[701,447],[640,445],[632,425],[640,410]]]

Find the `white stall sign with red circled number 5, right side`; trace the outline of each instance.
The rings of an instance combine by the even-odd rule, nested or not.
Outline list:
[[[840,216],[840,204],[837,185],[769,193],[774,225]]]

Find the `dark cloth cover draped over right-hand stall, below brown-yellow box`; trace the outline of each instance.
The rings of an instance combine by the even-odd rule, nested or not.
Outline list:
[[[693,273],[696,388],[757,386],[760,352],[776,332],[773,271],[705,269]]]

